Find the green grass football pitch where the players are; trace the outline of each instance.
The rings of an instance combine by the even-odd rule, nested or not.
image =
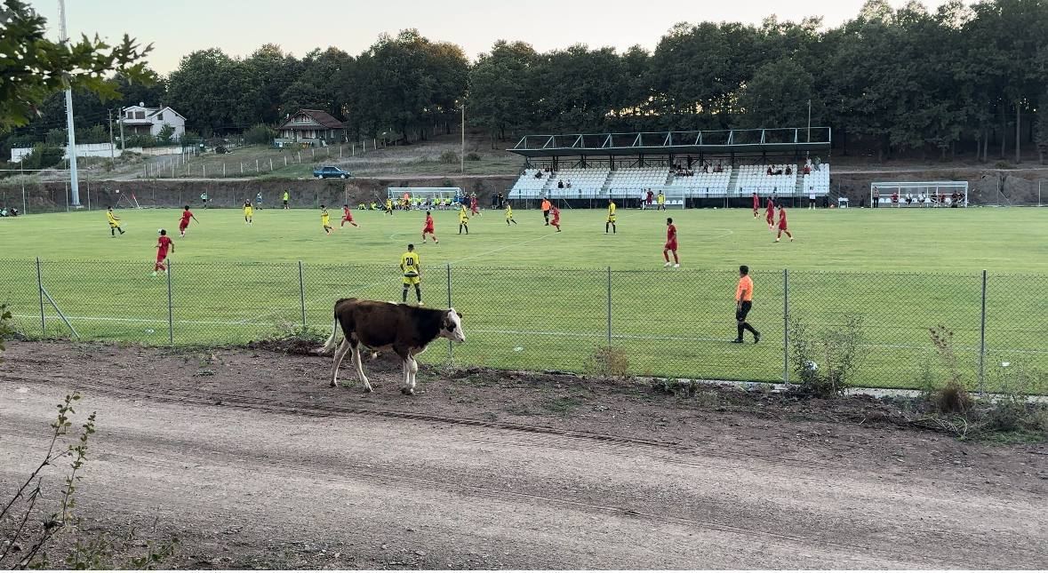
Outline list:
[[[1048,211],[789,210],[793,243],[772,242],[742,210],[619,210],[562,213],[564,232],[538,211],[501,212],[457,234],[453,212],[436,212],[439,245],[421,244],[423,214],[354,212],[359,228],[324,236],[318,211],[264,210],[250,227],[233,210],[199,210],[185,239],[176,211],[123,211],[127,234],[110,238],[102,212],[0,219],[0,302],[40,335],[35,258],[44,287],[84,338],[168,344],[168,282],[152,278],[156,229],[175,235],[172,299],[176,344],[233,344],[306,322],[330,328],[340,296],[399,300],[396,268],[408,242],[423,264],[423,300],[465,315],[458,363],[585,371],[608,338],[635,374],[774,380],[783,372],[784,273],[788,308],[812,328],[861,315],[870,355],[859,382],[912,387],[932,360],[927,329],[955,331],[974,382],[979,356],[981,272],[986,269],[987,365],[1048,368]],[[662,268],[665,216],[679,229],[681,269]],[[332,221],[340,214],[332,210]],[[730,345],[735,269],[754,270],[750,322],[760,345]],[[68,335],[46,309],[47,335]],[[446,358],[436,345],[423,361]],[[987,372],[991,372],[987,367]]]

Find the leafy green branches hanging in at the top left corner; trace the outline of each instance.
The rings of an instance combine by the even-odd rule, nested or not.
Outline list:
[[[129,80],[148,82],[141,59],[152,45],[140,47],[127,35],[116,46],[97,36],[77,43],[45,38],[46,20],[20,0],[0,7],[0,133],[24,126],[48,95],[66,88],[83,89],[103,98],[118,96],[104,75],[119,71]]]

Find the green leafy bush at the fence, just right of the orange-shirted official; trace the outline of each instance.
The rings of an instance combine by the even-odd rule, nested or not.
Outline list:
[[[863,318],[812,334],[798,318],[790,319],[790,360],[801,379],[800,390],[823,398],[842,396],[866,358]]]

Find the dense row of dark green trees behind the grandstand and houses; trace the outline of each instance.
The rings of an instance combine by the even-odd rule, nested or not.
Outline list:
[[[458,127],[493,145],[524,133],[833,128],[837,149],[897,153],[1048,151],[1048,2],[952,0],[936,10],[868,0],[826,27],[769,16],[673,26],[653,51],[574,45],[538,52],[499,41],[471,62],[417,30],[380,36],[351,56],[329,47],[298,59],[266,44],[246,58],[194,51],[150,87],[119,85],[122,105],[165,104],[210,136],[276,126],[300,108],[346,122],[350,138],[413,141]],[[116,76],[111,82],[119,83]],[[64,127],[61,94],[12,137]],[[79,118],[104,120],[89,93]],[[1041,126],[1044,126],[1042,129]],[[1010,156],[1010,155],[1009,155]]]

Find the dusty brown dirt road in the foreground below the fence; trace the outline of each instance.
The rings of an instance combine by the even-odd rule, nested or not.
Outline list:
[[[182,567],[1048,563],[1048,448],[874,423],[871,400],[429,371],[402,397],[380,361],[367,396],[327,388],[326,358],[261,350],[22,343],[6,358],[0,491],[79,389],[100,426],[81,512],[160,515]]]

